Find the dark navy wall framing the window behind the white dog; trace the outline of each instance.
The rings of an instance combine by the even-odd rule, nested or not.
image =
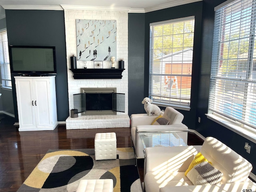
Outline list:
[[[154,12],[148,12],[145,15],[145,76],[144,76],[144,96],[148,96],[148,71],[149,71],[149,30],[150,23],[176,18],[195,16],[194,30],[194,53],[192,64],[192,85],[191,85],[191,104],[190,111],[179,110],[184,115],[183,123],[190,129],[195,128],[196,106],[199,80],[199,61],[201,46],[201,23],[202,23],[202,2],[185,4],[172,8],[166,8]],[[129,18],[130,19],[130,18]],[[130,46],[130,45],[129,45]]]

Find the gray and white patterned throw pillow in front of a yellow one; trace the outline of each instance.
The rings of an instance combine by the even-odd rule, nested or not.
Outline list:
[[[222,172],[205,161],[194,166],[187,174],[187,177],[194,185],[219,184],[222,176]]]

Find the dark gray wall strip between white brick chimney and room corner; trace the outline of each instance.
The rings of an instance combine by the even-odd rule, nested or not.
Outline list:
[[[144,46],[145,14],[128,14],[128,113],[145,113],[144,98]]]

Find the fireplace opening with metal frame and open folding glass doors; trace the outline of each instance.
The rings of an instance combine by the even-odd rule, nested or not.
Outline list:
[[[74,109],[82,115],[116,115],[125,112],[125,94],[116,88],[81,88],[74,94]]]

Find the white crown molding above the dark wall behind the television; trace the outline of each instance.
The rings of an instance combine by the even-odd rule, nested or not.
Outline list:
[[[63,10],[61,6],[48,5],[1,5],[4,9],[14,10]]]

